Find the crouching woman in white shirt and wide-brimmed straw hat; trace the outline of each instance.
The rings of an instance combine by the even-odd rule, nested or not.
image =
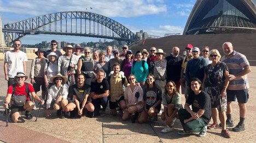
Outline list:
[[[65,107],[68,104],[67,80],[67,77],[62,76],[60,73],[58,73],[56,76],[50,77],[50,81],[55,84],[51,86],[48,91],[48,98],[46,101],[46,117],[51,115],[49,108],[56,110],[57,115],[60,115],[61,119],[65,118],[65,115],[67,116],[67,113],[65,113]]]

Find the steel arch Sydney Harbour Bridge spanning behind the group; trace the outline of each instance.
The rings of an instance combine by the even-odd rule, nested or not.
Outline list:
[[[40,15],[5,24],[2,30],[5,43],[8,46],[13,40],[30,34],[88,36],[126,41],[127,43],[139,40],[131,30],[119,22],[85,11],[65,11]]]

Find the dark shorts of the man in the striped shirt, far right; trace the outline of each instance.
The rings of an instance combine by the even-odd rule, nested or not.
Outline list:
[[[226,96],[228,102],[236,101],[237,98],[238,103],[247,103],[249,99],[249,90],[226,90]]]

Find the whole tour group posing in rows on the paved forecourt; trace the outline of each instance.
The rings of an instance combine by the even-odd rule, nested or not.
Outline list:
[[[232,130],[245,130],[247,73],[251,67],[245,55],[234,51],[230,42],[223,43],[225,55],[221,58],[217,49],[210,51],[207,46],[202,47],[200,57],[200,49],[191,44],[185,46],[185,57],[179,55],[178,47],[173,47],[166,56],[155,47],[150,48],[150,53],[143,49],[133,54],[127,45],[121,54],[117,49],[112,52],[112,46],[107,46],[106,52],[91,53],[89,47],[67,45],[62,55],[56,49],[57,42],[52,40],[51,49],[39,48],[36,52],[38,57],[33,59],[30,71],[31,84],[25,82],[27,57],[19,50],[20,46],[21,41],[15,40],[14,49],[5,53],[4,59],[8,80],[4,108],[11,104],[14,122],[25,121],[22,111],[26,111],[28,120],[32,119],[34,100],[45,103],[46,117],[51,115],[51,109],[61,119],[104,116],[109,104],[112,115],[119,113],[123,120],[137,119],[139,123],[149,118],[158,120],[162,104],[161,119],[166,122],[162,133],[170,132],[179,119],[183,131],[178,134],[200,132],[199,136],[205,136],[207,128],[221,126],[221,134],[230,138],[226,127],[234,126],[231,102],[237,98],[240,122]],[[36,94],[40,90],[43,100]],[[180,92],[185,95],[184,106]],[[213,124],[207,127],[211,118]]]

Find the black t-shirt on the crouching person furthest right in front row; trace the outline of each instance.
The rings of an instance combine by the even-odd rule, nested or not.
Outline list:
[[[192,110],[195,113],[200,109],[204,109],[205,113],[201,117],[206,125],[210,122],[212,115],[211,98],[205,91],[201,91],[198,95],[195,95],[195,92],[192,91],[186,103],[192,105]]]

